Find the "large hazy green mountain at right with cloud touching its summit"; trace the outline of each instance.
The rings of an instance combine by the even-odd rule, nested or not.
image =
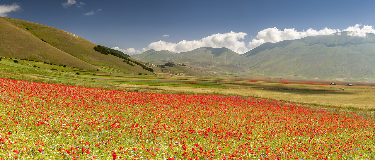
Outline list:
[[[252,73],[310,78],[375,77],[375,34],[338,32],[297,40],[264,43],[241,55],[239,64]]]

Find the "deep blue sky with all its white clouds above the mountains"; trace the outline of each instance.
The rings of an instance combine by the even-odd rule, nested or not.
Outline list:
[[[201,46],[243,53],[309,35],[373,33],[374,8],[370,0],[2,0],[0,16],[60,28],[128,54]]]

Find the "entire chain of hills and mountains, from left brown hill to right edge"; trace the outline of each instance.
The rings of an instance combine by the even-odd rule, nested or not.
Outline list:
[[[57,28],[0,17],[0,56],[26,58],[89,70],[152,75],[267,75],[307,78],[374,78],[375,34],[353,31],[309,36],[262,45],[238,54],[228,48],[201,47],[175,53],[150,49],[124,61],[94,50],[96,44]],[[122,53],[122,52],[121,52]],[[131,62],[132,61],[132,62]],[[183,63],[170,68],[155,65]],[[153,63],[154,65],[148,64]]]

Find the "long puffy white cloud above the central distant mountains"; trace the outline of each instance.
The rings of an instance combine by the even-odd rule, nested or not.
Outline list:
[[[244,39],[246,35],[247,33],[243,33],[243,32],[235,33],[231,31],[229,33],[213,34],[211,36],[204,37],[200,40],[192,40],[192,41],[183,40],[178,43],[171,43],[171,42],[165,42],[165,41],[160,40],[160,41],[151,43],[150,45],[148,45],[146,48],[143,48],[142,50],[147,51],[148,49],[155,49],[159,51],[159,50],[166,49],[172,52],[186,52],[186,51],[191,51],[199,47],[214,47],[214,48],[226,47],[237,53],[245,53],[249,51],[249,49],[246,48],[245,42],[240,41],[240,40]]]

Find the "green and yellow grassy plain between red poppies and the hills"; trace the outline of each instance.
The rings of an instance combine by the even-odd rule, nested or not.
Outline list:
[[[33,67],[34,65],[37,67]],[[57,71],[51,70],[52,68]],[[131,75],[113,68],[99,67],[99,69],[99,71],[84,70],[25,60],[14,63],[13,59],[9,58],[0,61],[1,78],[145,93],[252,96],[290,102],[375,109],[373,83],[260,77]],[[80,74],[77,75],[77,72]],[[337,85],[329,85],[332,82]],[[354,86],[346,84],[354,84]]]

